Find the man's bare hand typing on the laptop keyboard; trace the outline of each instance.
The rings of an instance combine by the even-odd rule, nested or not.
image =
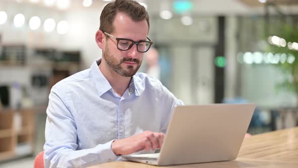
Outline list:
[[[155,151],[162,147],[165,134],[145,131],[128,138],[115,140],[112,143],[112,150],[116,155],[127,155],[140,150]]]

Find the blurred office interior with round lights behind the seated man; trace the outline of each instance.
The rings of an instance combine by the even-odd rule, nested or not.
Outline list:
[[[94,35],[109,2],[0,0],[0,167],[32,167],[49,91],[102,56]],[[138,2],[156,49],[141,72],[185,104],[256,103],[253,135],[297,126],[297,0]]]

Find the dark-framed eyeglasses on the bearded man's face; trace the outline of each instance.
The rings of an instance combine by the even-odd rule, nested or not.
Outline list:
[[[145,53],[150,49],[150,47],[153,44],[153,41],[151,41],[151,39],[148,37],[147,37],[147,39],[149,41],[145,41],[145,40],[133,41],[133,40],[127,39],[127,38],[117,38],[105,31],[103,31],[103,32],[117,40],[117,48],[118,48],[118,50],[121,50],[121,51],[129,50],[135,44],[138,52]]]

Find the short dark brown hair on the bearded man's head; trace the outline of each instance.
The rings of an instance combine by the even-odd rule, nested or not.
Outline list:
[[[127,14],[133,21],[146,19],[148,29],[150,27],[149,15],[142,5],[132,0],[116,0],[107,4],[103,9],[100,18],[100,30],[107,33],[112,33],[114,31],[113,22],[117,12]]]

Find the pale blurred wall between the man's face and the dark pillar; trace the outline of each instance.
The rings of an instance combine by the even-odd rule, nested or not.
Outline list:
[[[214,102],[214,57],[218,43],[217,17],[193,16],[193,24],[181,24],[180,17],[163,20],[151,17],[154,45],[168,56],[171,74],[168,89],[185,104]],[[162,79],[162,81],[165,79]]]

